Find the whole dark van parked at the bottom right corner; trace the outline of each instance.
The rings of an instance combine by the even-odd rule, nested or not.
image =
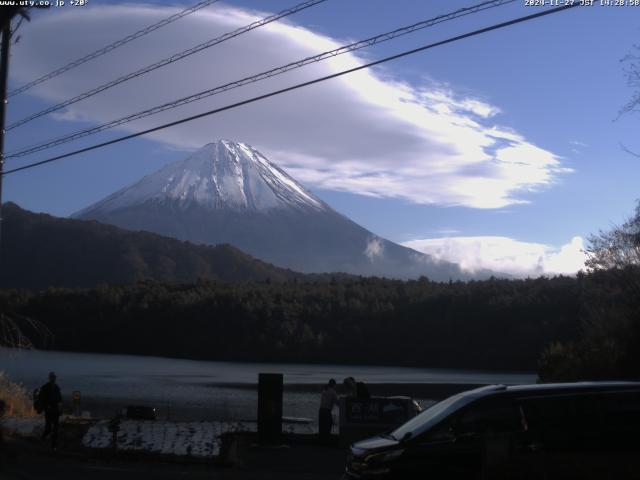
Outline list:
[[[346,478],[640,479],[640,383],[463,392],[353,444]]]

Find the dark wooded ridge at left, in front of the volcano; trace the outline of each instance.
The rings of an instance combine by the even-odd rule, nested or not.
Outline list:
[[[230,245],[193,245],[97,222],[35,214],[13,203],[4,204],[2,213],[0,288],[302,277]]]

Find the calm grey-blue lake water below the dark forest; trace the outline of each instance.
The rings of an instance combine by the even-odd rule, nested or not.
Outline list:
[[[375,384],[524,384],[532,373],[496,373],[358,365],[207,362],[161,357],[0,351],[0,371],[32,390],[54,370],[65,400],[82,394],[82,408],[111,415],[131,404],[152,405],[176,420],[247,420],[256,416],[258,373],[284,374],[284,414],[315,418],[319,389],[329,378],[353,376]],[[416,396],[416,395],[414,395]]]

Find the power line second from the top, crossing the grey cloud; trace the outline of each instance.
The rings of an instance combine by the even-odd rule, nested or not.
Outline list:
[[[81,100],[85,100],[89,97],[92,97],[100,92],[104,92],[105,90],[108,90],[109,88],[115,87],[116,85],[120,85],[123,82],[129,81],[132,78],[136,78],[139,77],[140,75],[144,75],[145,73],[149,73],[153,70],[157,70],[158,68],[164,67],[166,65],[169,65],[171,63],[177,62],[179,60],[182,60],[185,57],[188,57],[190,55],[193,55],[194,53],[198,53],[206,48],[210,48],[213,47],[214,45],[218,45],[222,42],[225,42],[227,40],[230,40],[231,38],[237,37],[239,35],[242,35],[243,33],[247,33],[251,30],[254,30],[256,28],[262,27],[268,23],[271,22],[275,22],[276,20],[279,20],[281,18],[284,17],[288,17],[289,15],[292,15],[296,12],[299,12],[301,10],[304,10],[306,8],[312,7],[314,5],[317,5],[318,3],[323,3],[326,2],[327,0],[307,0],[306,2],[303,3],[299,3],[298,5],[288,8],[286,10],[283,10],[279,13],[276,13],[275,15],[271,15],[268,17],[265,17],[261,20],[258,20],[256,22],[250,23],[249,25],[246,25],[244,27],[238,28],[237,30],[234,30],[232,32],[228,32],[225,33],[224,35],[221,35],[220,37],[214,38],[212,40],[209,40],[207,42],[201,43],[199,45],[196,45],[195,47],[189,48],[187,50],[184,50],[180,53],[176,53],[175,55],[172,55],[168,58],[165,58],[163,60],[160,60],[159,62],[153,63],[151,65],[148,65],[144,68],[141,68],[140,70],[136,70],[135,72],[132,73],[128,73],[127,75],[124,75],[122,77],[119,77],[115,80],[112,80],[108,83],[105,83],[103,85],[100,85],[99,87],[93,88],[87,92],[81,93],[80,95],[77,95],[73,98],[70,98],[68,100],[65,100],[64,102],[58,103],[57,105],[54,105],[52,107],[46,108],[40,112],[34,113],[33,115],[29,115],[28,117],[23,118],[22,120],[18,120],[17,122],[12,123],[11,125],[9,125],[6,130],[12,130],[16,127],[19,127],[21,125],[24,125],[25,123],[29,123],[32,120],[35,120],[36,118],[42,117],[43,115],[47,115],[51,112],[55,112],[57,110],[60,110],[61,108],[67,107],[73,103],[79,102]]]

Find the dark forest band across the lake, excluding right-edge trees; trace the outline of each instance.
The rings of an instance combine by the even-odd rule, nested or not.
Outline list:
[[[36,342],[57,350],[535,370],[577,336],[585,278],[142,282],[5,290],[0,309],[45,325],[51,338]]]

